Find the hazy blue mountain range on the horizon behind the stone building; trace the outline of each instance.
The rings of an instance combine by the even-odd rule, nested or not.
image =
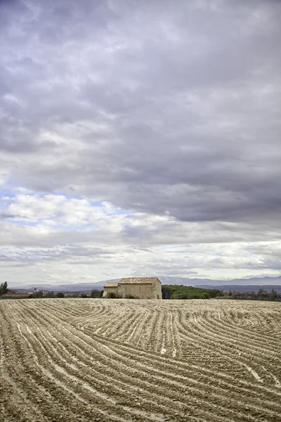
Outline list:
[[[254,290],[254,288],[264,288],[265,290],[271,290],[276,286],[281,286],[281,276],[278,277],[255,277],[252,279],[234,279],[234,280],[210,280],[210,279],[185,279],[183,277],[168,277],[168,276],[159,276],[159,280],[162,284],[182,284],[183,286],[192,286],[192,287],[203,287],[203,288],[219,288],[220,290]],[[27,286],[10,286],[15,290],[21,292],[31,292],[34,287],[43,291],[89,291],[93,289],[102,290],[105,283],[108,281],[119,281],[120,279],[104,280],[98,281],[98,283],[70,283],[70,284],[39,284],[37,285],[27,285]],[[207,287],[208,286],[208,287]],[[247,288],[247,290],[244,290]],[[275,289],[276,290],[276,289]]]

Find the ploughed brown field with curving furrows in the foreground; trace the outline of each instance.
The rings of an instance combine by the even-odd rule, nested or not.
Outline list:
[[[280,421],[281,304],[0,302],[0,421]]]

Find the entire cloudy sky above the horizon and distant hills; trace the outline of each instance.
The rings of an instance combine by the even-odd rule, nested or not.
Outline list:
[[[281,275],[281,2],[0,1],[0,282]]]

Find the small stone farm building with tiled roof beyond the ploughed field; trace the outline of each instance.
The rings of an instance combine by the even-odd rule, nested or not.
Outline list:
[[[105,284],[103,298],[109,298],[110,293],[119,298],[162,299],[162,283],[157,277],[122,279]]]

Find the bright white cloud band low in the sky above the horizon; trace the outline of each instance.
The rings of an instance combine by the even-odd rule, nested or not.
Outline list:
[[[226,223],[216,233],[216,223],[178,222],[53,194],[18,193],[2,198],[3,205],[0,262],[2,276],[13,274],[14,285],[94,282],[125,273],[229,279],[281,269],[279,241],[242,242],[245,233],[251,238],[251,226],[240,233],[239,224]]]

